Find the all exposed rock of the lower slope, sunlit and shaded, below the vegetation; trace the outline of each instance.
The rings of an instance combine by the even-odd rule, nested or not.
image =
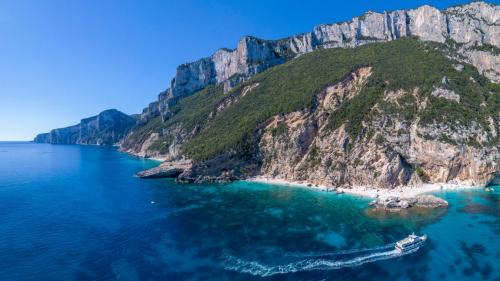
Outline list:
[[[410,96],[418,110],[424,110],[430,101],[418,88],[384,92],[383,99],[369,109],[373,118],[362,122],[359,134],[349,133],[346,123],[335,129],[329,127],[330,116],[356,98],[372,74],[372,67],[358,68],[315,94],[310,108],[266,120],[255,130],[258,142],[255,158],[249,162],[228,153],[208,161],[195,161],[181,173],[176,163],[184,161],[181,146],[190,134],[182,126],[174,126],[164,132],[171,138],[170,145],[165,151],[167,162],[157,172],[170,175],[174,171],[181,180],[195,182],[259,175],[335,187],[377,188],[419,186],[426,182],[483,185],[498,173],[499,147],[474,143],[488,144],[498,138],[500,115],[488,116],[486,126],[473,121],[452,127],[445,123],[426,124],[419,118],[405,119],[382,109],[381,104],[385,103],[385,107],[405,111],[403,103]],[[460,103],[459,94],[445,89],[447,83],[448,78],[443,77],[443,88],[435,87],[430,96]],[[231,92],[214,106],[207,119],[215,118],[258,86],[248,83]],[[153,138],[157,140],[158,135]],[[246,175],[241,173],[245,169]]]

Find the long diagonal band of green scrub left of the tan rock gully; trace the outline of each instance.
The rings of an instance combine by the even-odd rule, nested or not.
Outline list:
[[[259,86],[216,116],[184,146],[185,152],[204,159],[235,149],[269,117],[310,107],[315,93],[341,80],[372,55],[356,50],[320,50],[256,75],[245,84],[259,82]]]

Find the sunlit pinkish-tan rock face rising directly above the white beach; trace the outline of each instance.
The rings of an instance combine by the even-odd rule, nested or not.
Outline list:
[[[371,109],[376,117],[363,122],[357,137],[346,132],[345,124],[328,128],[328,114],[355,97],[370,74],[370,68],[358,69],[319,93],[312,108],[271,118],[259,143],[258,174],[330,186],[394,188],[450,181],[482,185],[500,169],[498,147],[463,145],[495,138],[498,123],[496,128],[422,125],[418,119],[388,116],[376,104]],[[410,94],[418,100],[417,92]],[[397,107],[406,94],[387,92],[384,102]],[[418,102],[426,106],[425,100]]]

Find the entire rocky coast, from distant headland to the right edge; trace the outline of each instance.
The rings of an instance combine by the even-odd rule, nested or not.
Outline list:
[[[140,176],[189,182],[486,184],[500,170],[499,82],[500,6],[367,12],[183,64],[121,134],[91,118],[36,140],[120,141],[166,159]]]

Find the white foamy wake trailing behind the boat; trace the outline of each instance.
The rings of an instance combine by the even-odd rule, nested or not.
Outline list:
[[[418,251],[420,248],[415,248],[407,252],[399,252],[394,249],[394,244],[391,247],[389,245],[368,248],[368,249],[357,249],[348,251],[337,251],[330,254],[324,255],[312,255],[308,259],[303,259],[297,262],[292,262],[284,265],[266,265],[256,261],[245,261],[234,256],[226,256],[223,262],[224,268],[227,270],[233,270],[241,273],[249,273],[256,276],[267,277],[275,274],[286,274],[294,273],[299,271],[311,271],[311,270],[333,270],[341,269],[346,267],[356,267],[363,265],[365,263],[393,259],[408,255]],[[373,252],[373,253],[365,253]],[[326,257],[326,256],[339,256],[345,254],[355,254],[357,256],[345,258],[345,259],[328,259],[328,258],[312,258],[312,257]],[[360,254],[365,253],[365,254]]]

